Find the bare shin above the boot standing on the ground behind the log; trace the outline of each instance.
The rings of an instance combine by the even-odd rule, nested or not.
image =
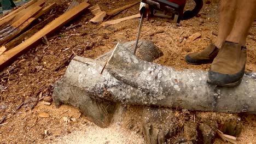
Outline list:
[[[222,0],[220,2],[219,32],[217,40],[214,43],[219,49],[222,47],[222,43],[226,40],[234,25],[236,5],[237,0]]]

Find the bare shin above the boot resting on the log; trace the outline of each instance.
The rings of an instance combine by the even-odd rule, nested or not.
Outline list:
[[[237,7],[235,23],[226,41],[246,45],[247,34],[254,20],[256,0],[237,1]]]

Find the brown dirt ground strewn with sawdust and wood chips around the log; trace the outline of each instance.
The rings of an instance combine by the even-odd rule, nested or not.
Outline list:
[[[54,1],[47,1],[46,4]],[[56,0],[56,2],[59,4],[56,11],[61,12],[68,7],[71,0]],[[89,1],[91,5],[99,4],[105,11],[132,2],[135,0]],[[188,5],[191,5],[191,1],[188,2]],[[210,4],[204,4],[199,17],[182,21],[181,26],[152,20],[144,22],[141,39],[153,41],[164,53],[164,56],[155,62],[179,70],[208,70],[210,64],[189,65],[184,61],[184,56],[190,52],[204,49],[216,39],[216,35],[212,32],[218,31],[218,5],[217,0],[210,1]],[[137,14],[138,7],[139,4],[110,20]],[[142,134],[136,133],[136,129],[128,130],[115,127],[101,129],[87,121],[72,106],[62,105],[56,109],[54,104],[50,106],[42,104],[43,98],[51,97],[54,82],[65,74],[68,63],[65,64],[65,67],[57,70],[56,68],[72,55],[72,50],[78,56],[93,59],[113,49],[119,40],[136,39],[139,19],[101,27],[88,22],[92,17],[90,12],[86,11],[72,24],[63,27],[51,39],[49,38],[50,45],[41,43],[33,47],[10,67],[0,71],[0,86],[6,87],[0,91],[0,119],[7,116],[0,125],[0,143],[144,143]],[[70,28],[70,26],[76,27]],[[202,34],[200,38],[194,41],[187,39],[196,32]],[[256,71],[255,39],[256,22],[253,23],[247,40],[246,71]],[[41,99],[36,102],[38,97]],[[40,117],[42,115],[45,118]],[[255,115],[241,114],[239,116],[242,121],[242,133],[238,137],[238,143],[256,143]],[[104,134],[106,136],[102,136]],[[79,139],[78,135],[82,136],[84,141],[74,141]],[[86,137],[102,139],[102,141],[88,141]],[[114,137],[117,141],[108,137]],[[136,137],[139,142],[134,142],[133,137]],[[120,141],[120,139],[124,140]],[[225,142],[217,138],[214,143]]]

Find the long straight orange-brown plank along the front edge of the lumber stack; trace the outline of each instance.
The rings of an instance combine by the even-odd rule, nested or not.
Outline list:
[[[83,2],[74,7],[73,9],[67,11],[67,13],[62,14],[61,16],[57,17],[54,21],[46,25],[43,29],[38,31],[34,34],[31,38],[24,41],[24,43],[15,46],[13,49],[4,52],[0,56],[0,69],[3,69],[7,65],[11,63],[15,58],[20,56],[23,52],[28,50],[33,44],[36,44],[43,38],[44,35],[52,34],[53,32],[57,31],[61,27],[65,26],[68,22],[72,21],[75,17],[83,14],[84,10],[89,7],[90,4]]]

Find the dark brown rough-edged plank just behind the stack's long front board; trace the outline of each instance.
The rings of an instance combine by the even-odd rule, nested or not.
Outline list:
[[[19,35],[19,37],[9,41],[9,43],[5,44],[4,46],[6,47],[7,50],[12,49],[13,47],[19,45],[24,41],[25,38],[30,38],[34,33],[38,32],[38,29],[42,29],[47,23],[51,22],[56,16],[51,15],[48,17],[46,20],[38,23],[36,26],[33,26],[31,29],[28,29],[28,31],[22,33]]]

